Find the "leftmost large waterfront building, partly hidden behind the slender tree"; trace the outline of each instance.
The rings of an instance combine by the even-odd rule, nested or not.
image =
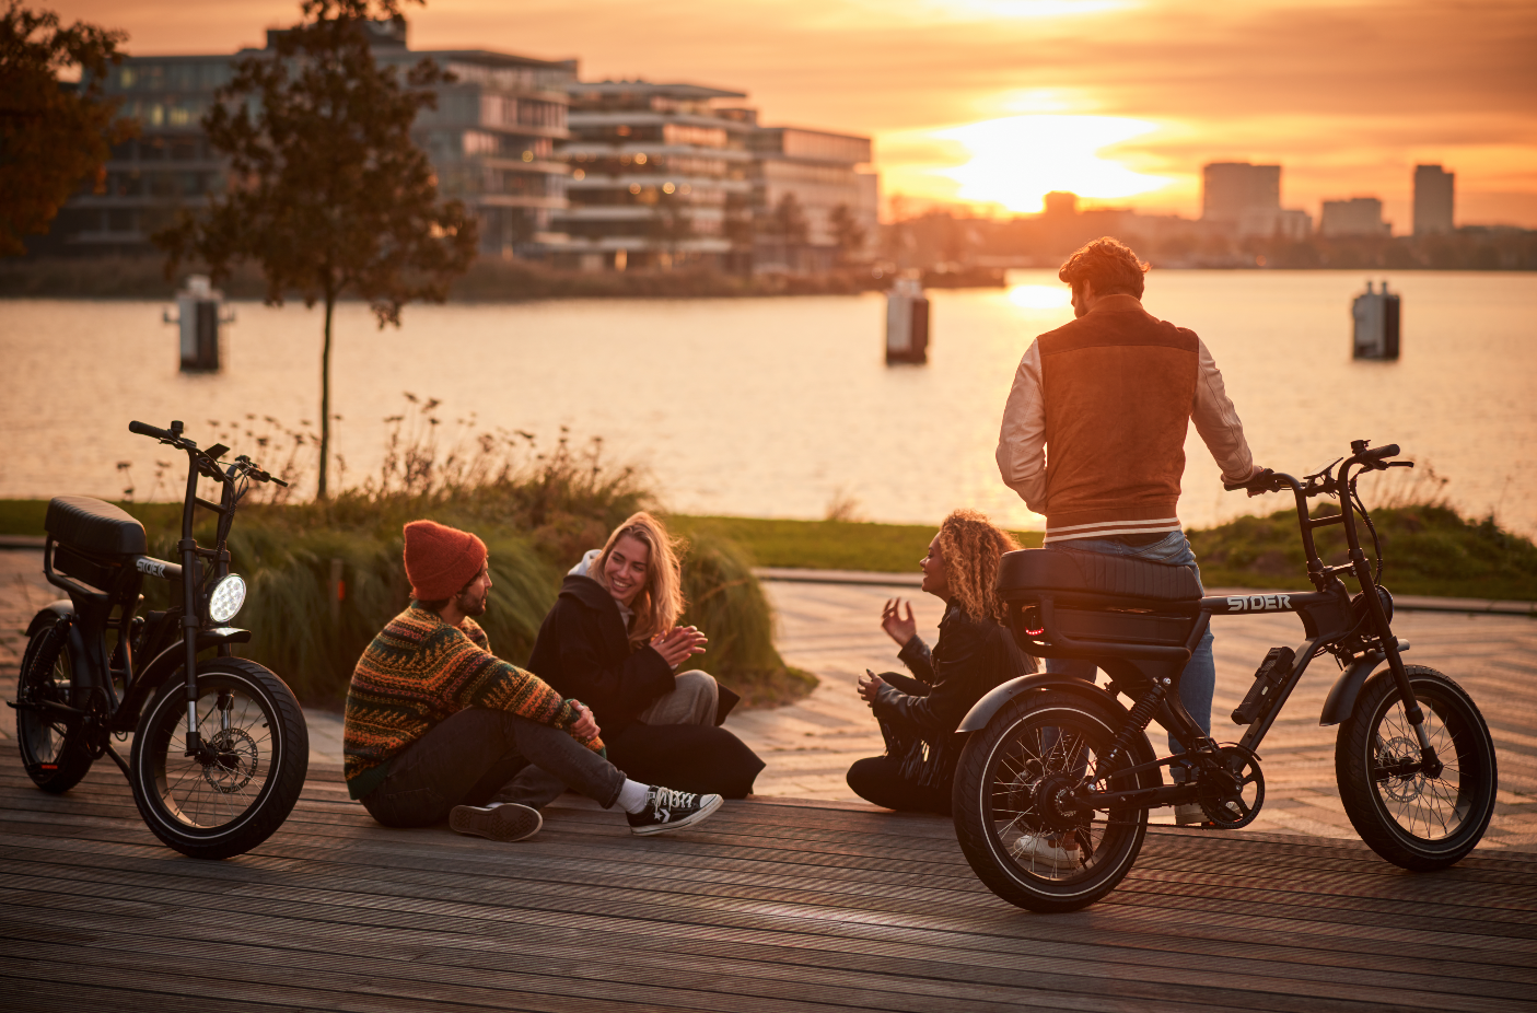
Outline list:
[[[369,26],[373,55],[401,69],[432,57],[458,80],[438,86],[437,111],[413,135],[432,158],[438,189],[480,218],[481,251],[512,255],[563,241],[550,215],[566,203],[567,168],[555,141],[566,137],[566,85],[575,60],[533,60],[480,49],[412,51],[390,23]],[[267,35],[267,49],[274,32]],[[148,252],[149,234],[178,209],[223,192],[224,164],[201,131],[214,92],[229,81],[234,55],[128,57],[112,68],[106,92],[141,125],[106,166],[106,192],[83,191],[60,211],[34,252]]]

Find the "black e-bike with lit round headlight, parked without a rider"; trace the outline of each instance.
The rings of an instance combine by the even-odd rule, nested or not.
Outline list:
[[[231,652],[251,632],[229,626],[246,598],[229,572],[229,529],[252,483],[283,483],[249,457],[220,464],[229,447],[200,449],[181,423],[129,430],[188,455],[181,563],[149,556],[143,524],[111,503],[49,501],[43,572],[69,596],[28,627],[11,704],[22,761],[37,787],[60,793],[111,756],[157,838],[194,858],[229,858],[281,825],[309,769],[294,693]],[[218,503],[198,497],[200,477],[220,484]],[[218,515],[211,549],[192,536],[197,507]],[[171,607],[140,615],[144,576],[171,581]],[[124,761],[112,736],[129,732]]]

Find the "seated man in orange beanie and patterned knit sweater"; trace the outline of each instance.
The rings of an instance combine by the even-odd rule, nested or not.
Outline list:
[[[406,524],[410,607],[373,638],[347,687],[347,792],[386,827],[441,821],[458,833],[521,841],[543,825],[506,785],[529,764],[629,813],[633,833],[681,830],[721,805],[630,781],[603,758],[592,713],[490,653],[486,543],[433,521]]]

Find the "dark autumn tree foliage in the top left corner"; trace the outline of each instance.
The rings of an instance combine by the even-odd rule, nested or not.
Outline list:
[[[25,254],[23,235],[48,232],[81,180],[106,181],[112,144],[137,132],[103,97],[108,65],[126,32],[85,22],[58,26],[51,11],[9,0],[0,14],[0,257]],[[60,74],[80,71],[78,85]]]

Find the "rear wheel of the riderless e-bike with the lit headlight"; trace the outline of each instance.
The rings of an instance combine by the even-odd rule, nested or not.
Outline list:
[[[69,658],[69,627],[49,623],[26,643],[15,687],[15,738],[22,746],[22,764],[32,784],[45,792],[57,795],[80,784],[91,770],[91,749],[80,718],[28,704],[78,707],[85,702],[81,696]]]

